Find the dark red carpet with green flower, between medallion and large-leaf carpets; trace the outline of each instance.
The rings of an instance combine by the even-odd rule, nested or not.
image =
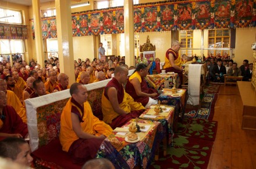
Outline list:
[[[218,122],[205,119],[179,119],[175,134],[215,141]]]

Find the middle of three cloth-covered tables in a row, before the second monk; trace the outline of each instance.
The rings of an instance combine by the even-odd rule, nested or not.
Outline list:
[[[168,145],[172,144],[172,138],[173,138],[173,116],[175,113],[175,107],[169,106],[169,105],[161,105],[162,112],[158,115],[155,114],[154,106],[151,106],[150,109],[146,109],[144,113],[140,115],[140,119],[146,119],[146,120],[152,120],[157,121],[161,123],[161,126],[163,128],[163,135],[160,135],[161,138],[160,141],[164,137],[168,137]]]

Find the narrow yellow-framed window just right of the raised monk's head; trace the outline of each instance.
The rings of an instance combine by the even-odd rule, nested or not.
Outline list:
[[[191,49],[189,49],[191,48]],[[180,56],[193,54],[193,31],[180,31]]]

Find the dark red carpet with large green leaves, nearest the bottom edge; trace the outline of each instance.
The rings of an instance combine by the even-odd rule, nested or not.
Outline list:
[[[205,139],[176,135],[166,156],[159,152],[159,160],[153,161],[150,168],[207,168],[213,144]]]

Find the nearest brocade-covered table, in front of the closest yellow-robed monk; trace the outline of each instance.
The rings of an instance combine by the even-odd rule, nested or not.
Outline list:
[[[126,123],[123,128],[127,128],[131,123],[136,123],[135,119]],[[125,135],[113,132],[108,138],[102,142],[97,158],[104,157],[112,162],[115,168],[148,168],[154,159],[155,148],[158,144],[159,135],[163,135],[163,131],[159,122],[150,120],[138,120],[138,126],[148,126],[145,132],[136,133],[138,135],[137,142],[126,142]]]

